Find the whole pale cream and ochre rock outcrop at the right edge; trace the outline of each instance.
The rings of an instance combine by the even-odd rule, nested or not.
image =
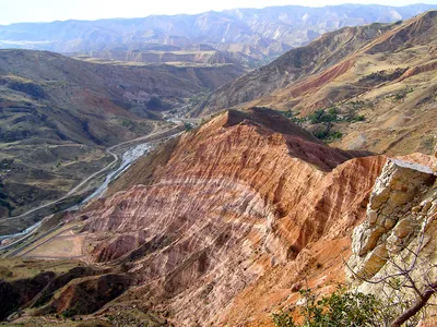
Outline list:
[[[417,294],[410,281],[401,291],[383,281],[395,277],[403,284],[401,278],[408,274],[422,292],[437,278],[437,174],[429,168],[436,160],[425,159],[420,161],[427,166],[389,160],[374,186],[366,219],[354,230],[345,270],[363,292],[411,300]]]

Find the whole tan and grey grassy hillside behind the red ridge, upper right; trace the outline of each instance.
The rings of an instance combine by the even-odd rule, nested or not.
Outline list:
[[[311,128],[305,118],[333,108],[339,116],[330,128],[343,134],[335,146],[432,154],[437,128],[432,119],[437,108],[436,32],[437,12],[429,11],[403,23],[323,35],[222,86],[197,113],[267,106],[292,110]],[[365,121],[346,119],[357,116]]]

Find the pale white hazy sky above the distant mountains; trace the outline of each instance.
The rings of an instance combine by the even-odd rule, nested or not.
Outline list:
[[[151,14],[200,13],[233,8],[303,4],[321,7],[340,3],[404,5],[434,3],[437,0],[0,0],[0,25],[19,22],[144,17]]]

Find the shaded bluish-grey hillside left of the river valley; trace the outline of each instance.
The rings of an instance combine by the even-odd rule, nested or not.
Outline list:
[[[114,160],[104,147],[165,125],[161,111],[240,73],[0,50],[0,217],[60,197]]]

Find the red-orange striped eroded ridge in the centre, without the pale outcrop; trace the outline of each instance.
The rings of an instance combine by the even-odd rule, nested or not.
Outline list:
[[[137,164],[117,182],[127,191],[90,205],[78,217],[87,219],[83,252],[135,276],[118,302],[166,311],[177,326],[269,325],[304,278],[342,280],[339,253],[347,255],[386,161],[364,155],[330,148],[271,110],[229,111],[144,175]]]

